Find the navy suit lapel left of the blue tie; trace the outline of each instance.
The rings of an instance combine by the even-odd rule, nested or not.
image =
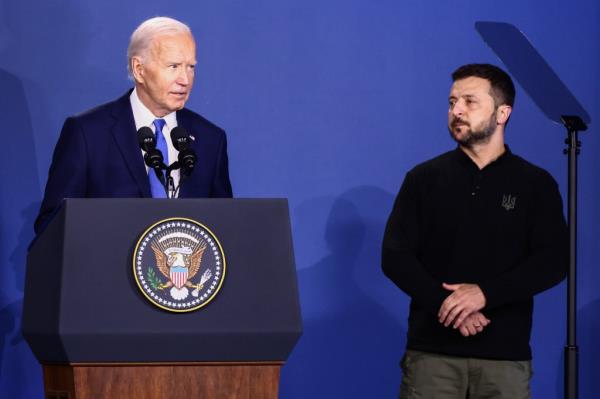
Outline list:
[[[119,98],[113,107],[112,116],[115,119],[111,132],[117,143],[129,172],[133,176],[142,197],[150,198],[150,183],[144,166],[142,151],[137,142],[133,111],[129,102],[131,90]]]

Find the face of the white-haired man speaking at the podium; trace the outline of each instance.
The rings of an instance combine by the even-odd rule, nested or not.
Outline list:
[[[134,57],[133,75],[140,100],[158,117],[183,108],[190,96],[196,44],[190,34],[154,38],[146,59]]]

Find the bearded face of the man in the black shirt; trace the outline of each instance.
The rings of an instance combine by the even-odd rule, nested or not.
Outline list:
[[[497,108],[486,79],[468,77],[457,80],[448,98],[448,130],[462,146],[487,143],[496,132]]]

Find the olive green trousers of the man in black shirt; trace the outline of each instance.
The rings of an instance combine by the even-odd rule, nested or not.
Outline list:
[[[401,366],[400,399],[531,399],[531,361],[407,350]]]

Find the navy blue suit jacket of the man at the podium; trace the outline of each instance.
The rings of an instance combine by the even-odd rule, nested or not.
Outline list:
[[[152,197],[130,93],[67,118],[54,149],[44,199],[35,221],[36,234],[63,198]],[[176,118],[178,126],[195,138],[192,147],[198,156],[179,197],[231,197],[225,132],[185,108],[177,111]]]

